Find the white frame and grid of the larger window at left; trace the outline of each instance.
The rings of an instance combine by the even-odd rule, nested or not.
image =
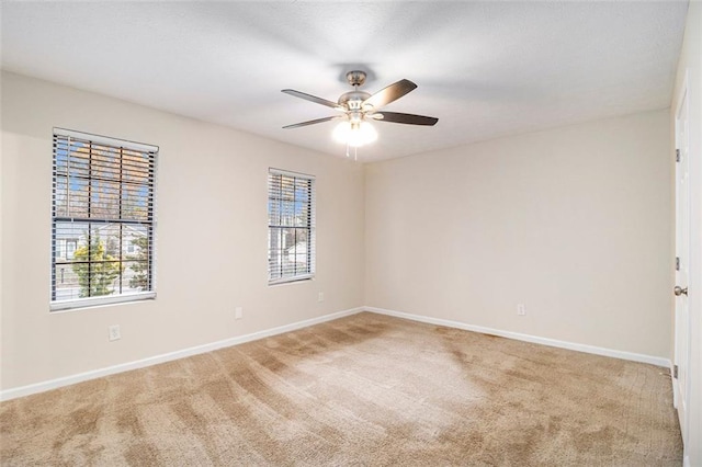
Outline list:
[[[118,184],[120,186],[124,186],[125,183],[129,183],[129,181],[127,181],[127,176],[124,172],[124,170],[129,170],[129,169],[124,169],[123,170],[123,163],[124,163],[124,153],[123,151],[132,151],[132,152],[143,152],[143,153],[148,153],[148,160],[146,163],[146,168],[147,168],[147,181],[146,183],[140,183],[137,184],[135,186],[139,186],[140,189],[146,189],[146,194],[141,195],[143,198],[146,200],[146,219],[137,219],[136,217],[131,218],[129,216],[124,217],[123,218],[123,203],[124,200],[128,200],[128,198],[123,198],[122,193],[123,193],[123,189],[120,189],[120,197],[118,201],[116,202],[120,206],[120,216],[118,218],[115,218],[114,215],[111,217],[109,214],[104,214],[102,217],[101,216],[92,216],[90,209],[88,210],[88,215],[87,217],[73,217],[72,213],[70,212],[70,202],[66,205],[66,213],[64,213],[65,215],[58,215],[57,212],[57,198],[58,193],[60,191],[59,189],[59,183],[58,180],[59,179],[65,179],[64,183],[66,184],[66,195],[70,196],[70,183],[71,183],[71,174],[70,174],[70,170],[67,167],[65,170],[65,173],[59,173],[59,169],[58,169],[58,147],[61,144],[66,144],[66,147],[68,148],[68,155],[67,155],[67,160],[70,160],[70,151],[71,151],[71,140],[79,140],[81,141],[81,144],[84,143],[89,143],[90,144],[90,149],[89,149],[89,153],[92,153],[92,145],[97,145],[97,146],[101,146],[101,147],[110,147],[113,149],[118,149],[120,150],[120,172],[116,178],[114,178],[114,175],[112,178],[107,178],[105,180],[109,180],[109,182],[103,182],[103,183],[113,183],[113,184]],[[53,166],[53,170],[52,170],[52,179],[53,179],[53,184],[52,184],[52,264],[50,264],[50,284],[49,284],[49,310],[50,311],[61,311],[61,310],[71,310],[71,309],[81,309],[81,308],[87,308],[87,307],[94,307],[94,306],[101,306],[101,305],[111,305],[111,304],[124,304],[124,303],[132,303],[132,301],[137,301],[137,300],[144,300],[144,299],[154,299],[156,298],[156,231],[157,231],[157,208],[156,208],[156,200],[157,200],[157,173],[158,173],[158,160],[159,160],[159,147],[158,146],[154,146],[154,145],[147,145],[147,144],[143,144],[143,143],[135,143],[135,141],[129,141],[129,140],[125,140],[125,139],[118,139],[118,138],[113,138],[113,137],[107,137],[107,136],[101,136],[101,135],[94,135],[94,134],[88,134],[88,133],[83,133],[83,132],[76,132],[76,130],[71,130],[71,129],[66,129],[66,128],[59,128],[59,127],[54,127],[53,128],[53,137],[52,137],[52,166]],[[61,143],[63,141],[63,143]],[[93,164],[92,162],[92,157],[90,156],[88,162],[86,163],[86,167],[88,168],[87,170],[89,171],[89,173],[93,173],[95,169],[95,164]],[[100,164],[98,163],[98,168],[100,168]],[[105,170],[103,168],[103,170]],[[126,172],[128,173],[128,172]],[[93,176],[93,175],[90,175]],[[90,183],[90,181],[88,182]],[[106,190],[106,189],[105,189]],[[89,191],[89,193],[91,193]],[[100,195],[105,194],[105,192],[100,192]],[[87,205],[90,206],[93,203],[98,203],[97,201],[92,200],[92,195],[89,194],[88,198],[86,201]],[[106,209],[106,208],[105,208]],[[57,238],[57,229],[58,228],[67,228],[67,229],[75,229],[75,228],[79,228],[81,225],[87,225],[89,231],[92,234],[92,229],[94,228],[95,231],[99,230],[100,227],[98,226],[107,226],[107,227],[114,227],[116,225],[120,226],[120,231],[123,231],[123,228],[125,226],[138,226],[140,229],[145,230],[145,235],[147,238],[147,244],[148,244],[148,252],[147,252],[147,260],[146,260],[146,274],[147,274],[147,283],[148,283],[148,288],[145,291],[139,291],[139,292],[132,292],[132,291],[127,291],[127,292],[123,292],[123,293],[118,293],[116,295],[99,295],[99,296],[92,296],[92,297],[72,297],[69,299],[58,299],[57,300],[57,274],[58,274],[58,266],[59,265],[67,265],[67,264],[71,264],[70,260],[71,259],[64,259],[64,262],[57,262],[57,243],[59,241],[59,239]],[[90,242],[90,237],[88,237],[87,241]],[[120,238],[122,239],[122,234],[120,234]],[[64,239],[66,241],[66,246],[64,247],[67,250],[67,243],[68,241],[75,241],[76,242],[76,251],[78,251],[80,249],[80,241],[76,241],[76,239],[71,238],[71,239]],[[122,241],[122,240],[121,240]],[[122,249],[124,249],[124,244],[121,243],[120,244],[120,251],[122,251]],[[90,251],[90,250],[89,250]],[[75,254],[75,251],[73,251]],[[92,254],[92,253],[91,253]],[[120,272],[120,281],[124,281],[126,280],[126,277],[124,276],[124,270],[127,267],[126,264],[128,264],[128,262],[134,262],[134,259],[129,259],[129,258],[123,258],[122,253],[120,253],[120,258],[118,258],[118,264],[122,267],[121,272]],[[137,260],[138,261],[138,260]],[[98,262],[102,262],[98,261]],[[60,264],[59,264],[60,263]],[[93,263],[92,258],[89,257],[88,262],[86,263],[88,265],[88,267],[90,267]],[[89,287],[91,287],[91,285],[89,285]],[[134,288],[134,287],[131,287]]]

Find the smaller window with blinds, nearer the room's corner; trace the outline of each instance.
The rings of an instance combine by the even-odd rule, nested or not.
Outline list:
[[[268,281],[301,281],[315,274],[315,178],[269,169]]]

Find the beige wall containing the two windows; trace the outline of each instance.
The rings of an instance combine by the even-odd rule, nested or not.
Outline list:
[[[49,312],[54,126],[160,146],[156,300]],[[342,158],[3,73],[0,167],[3,389],[363,304],[363,169]],[[269,167],[317,176],[313,282],[267,285]]]

